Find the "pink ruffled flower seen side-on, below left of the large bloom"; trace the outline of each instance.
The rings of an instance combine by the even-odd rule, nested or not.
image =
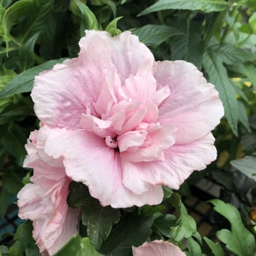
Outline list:
[[[45,126],[30,134],[32,143],[26,144],[28,156],[24,167],[34,169],[18,193],[19,217],[33,221],[33,237],[42,255],[52,255],[74,234],[78,233],[80,209],[67,205],[70,178],[62,159],[55,160],[45,154],[44,142],[49,135]]]

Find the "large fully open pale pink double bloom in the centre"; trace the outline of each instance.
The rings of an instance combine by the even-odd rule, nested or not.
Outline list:
[[[212,84],[186,61],[154,61],[131,32],[87,31],[78,58],[35,78],[35,113],[51,128],[44,151],[103,206],[159,204],[216,158],[223,116]]]

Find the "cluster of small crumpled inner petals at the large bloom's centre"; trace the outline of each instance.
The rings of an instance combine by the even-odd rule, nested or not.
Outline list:
[[[122,85],[115,69],[106,73],[98,101],[88,104],[80,125],[117,148],[120,157],[133,162],[163,160],[163,151],[175,142],[176,128],[157,122],[158,105],[170,94],[157,90],[151,73],[130,76]]]

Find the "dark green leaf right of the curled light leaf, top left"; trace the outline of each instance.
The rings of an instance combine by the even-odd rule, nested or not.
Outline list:
[[[40,34],[44,30],[46,21],[53,9],[53,0],[32,0],[28,8],[28,19],[23,25],[21,31],[21,43],[28,41],[36,34]]]

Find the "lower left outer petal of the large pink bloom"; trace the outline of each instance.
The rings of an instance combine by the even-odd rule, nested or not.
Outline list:
[[[141,195],[122,184],[119,153],[108,147],[102,138],[84,130],[67,131],[55,128],[47,139],[45,151],[53,157],[64,157],[66,173],[89,187],[90,195],[103,206],[115,208],[159,204],[163,199],[161,186],[150,186]]]

